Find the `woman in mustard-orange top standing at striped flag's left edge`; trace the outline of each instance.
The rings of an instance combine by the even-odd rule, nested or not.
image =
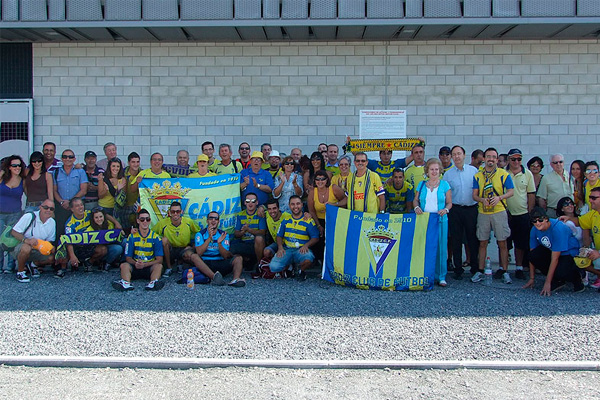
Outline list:
[[[346,193],[338,186],[331,185],[331,178],[326,171],[315,173],[315,187],[308,192],[308,211],[319,228],[319,242],[313,247],[315,258],[323,260],[325,250],[325,208],[327,204],[345,207],[348,201]]]

